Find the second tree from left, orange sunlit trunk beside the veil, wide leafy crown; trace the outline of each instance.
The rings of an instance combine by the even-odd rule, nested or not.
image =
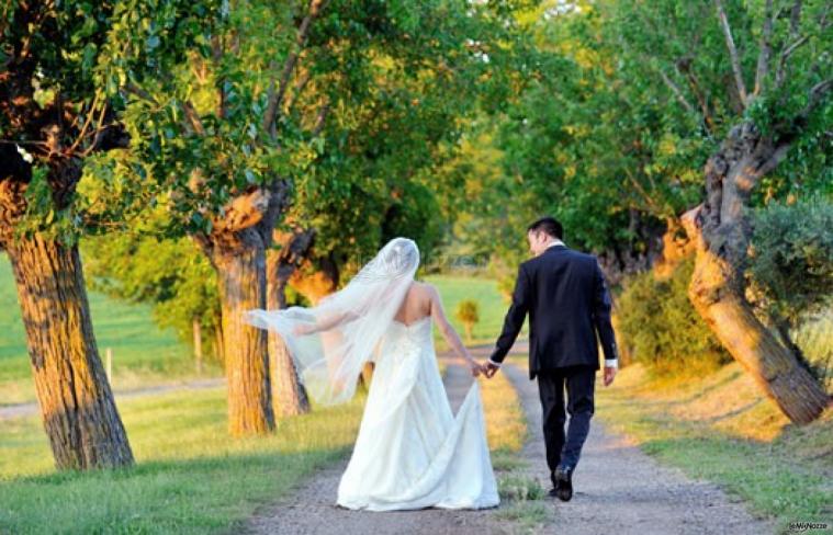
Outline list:
[[[395,221],[385,210],[402,203],[386,196],[407,198],[418,186],[406,166],[426,166],[437,140],[459,132],[462,90],[479,86],[494,96],[507,89],[497,66],[507,56],[500,35],[511,29],[495,14],[508,5],[239,1],[132,12],[147,23],[125,29],[114,68],[128,94],[134,175],[151,179],[176,216],[170,234],[192,236],[217,272],[233,434],[272,426],[268,342],[241,322],[241,312],[266,306],[264,251],[273,229],[292,215],[291,203],[301,200],[301,209],[329,203],[316,215],[357,223],[344,255],[363,252],[360,239],[375,250],[379,234],[363,232],[367,220],[394,228],[385,229],[380,214]],[[491,32],[495,65],[469,37],[479,30]],[[154,76],[135,76],[136,65],[150,65]],[[390,117],[413,128],[385,133]],[[401,160],[393,155],[397,139],[407,141],[397,147],[407,155]],[[383,172],[393,178],[383,180]],[[381,209],[368,217],[368,204]],[[324,236],[344,230],[295,220],[318,232],[319,258],[347,263],[323,247]]]

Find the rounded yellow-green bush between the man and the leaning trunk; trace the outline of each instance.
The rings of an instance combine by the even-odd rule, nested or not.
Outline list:
[[[632,275],[619,296],[622,340],[633,360],[657,375],[707,373],[732,360],[688,300],[693,271],[688,260],[668,280],[653,272]]]

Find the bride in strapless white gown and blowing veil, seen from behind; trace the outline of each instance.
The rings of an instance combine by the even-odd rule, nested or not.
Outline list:
[[[497,505],[476,380],[457,416],[442,386],[431,319],[473,376],[482,367],[449,323],[434,286],[414,281],[419,250],[394,238],[342,289],[312,308],[247,310],[278,331],[318,403],[349,400],[374,363],[337,504],[348,509],[481,509]]]

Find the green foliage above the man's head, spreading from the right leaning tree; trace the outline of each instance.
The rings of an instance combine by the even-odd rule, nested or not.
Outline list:
[[[765,3],[722,3],[743,76],[754,79]],[[773,3],[770,68],[744,111],[714,2],[544,2],[531,27],[550,68],[497,121],[470,135],[457,166],[469,174],[466,187],[483,194],[459,209],[455,236],[513,265],[525,255],[525,226],[552,214],[573,247],[608,252],[621,263],[650,259],[666,219],[702,201],[707,157],[744,119],[793,138],[777,169],[752,191],[753,206],[829,194],[831,99],[788,122],[830,72],[826,2]],[[796,4],[801,12],[793,27]],[[779,54],[793,44],[781,71]],[[485,162],[494,163],[483,169]]]

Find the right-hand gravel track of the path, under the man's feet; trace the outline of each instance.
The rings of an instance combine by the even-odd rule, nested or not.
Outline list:
[[[526,369],[504,366],[527,413],[531,439],[524,448],[530,475],[549,489],[538,385]],[[600,375],[598,376],[600,377]],[[604,388],[600,382],[597,391]],[[773,524],[753,519],[741,503],[712,483],[660,466],[624,437],[605,431],[598,418],[573,476],[574,496],[554,500],[554,521],[544,533],[571,535],[774,533]]]

